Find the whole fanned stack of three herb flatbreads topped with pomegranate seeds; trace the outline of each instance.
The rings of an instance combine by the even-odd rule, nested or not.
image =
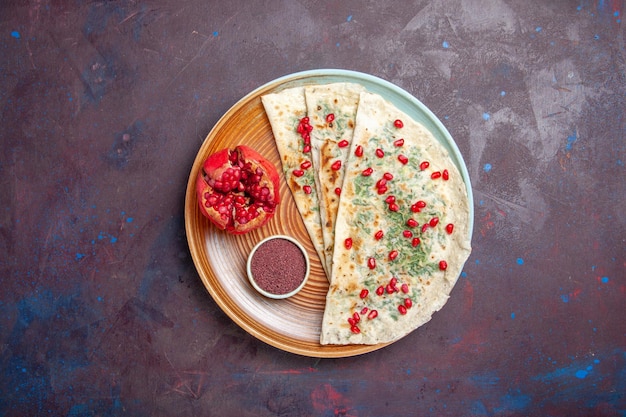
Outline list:
[[[321,344],[379,344],[430,320],[470,254],[460,172],[424,126],[356,83],[262,97],[330,286]]]

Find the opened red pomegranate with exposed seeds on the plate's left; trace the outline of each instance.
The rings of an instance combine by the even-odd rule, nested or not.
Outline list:
[[[239,145],[209,156],[196,180],[203,215],[222,230],[243,234],[263,226],[280,203],[278,171],[254,149]]]

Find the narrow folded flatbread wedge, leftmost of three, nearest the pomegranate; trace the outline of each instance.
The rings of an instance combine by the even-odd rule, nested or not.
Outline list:
[[[304,87],[267,94],[261,97],[261,101],[272,127],[287,186],[291,190],[313,247],[320,257],[326,277],[329,277],[330,271],[326,270],[327,263],[324,258],[319,196],[315,186],[311,152],[303,152],[303,138],[297,131],[300,120],[306,116]],[[309,164],[309,168],[302,169],[303,163]],[[303,171],[303,175],[294,175],[296,170]]]

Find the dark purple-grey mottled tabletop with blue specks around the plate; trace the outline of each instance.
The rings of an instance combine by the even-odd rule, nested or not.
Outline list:
[[[3,1],[0,415],[626,415],[623,1]],[[429,106],[473,253],[403,340],[317,360],[198,278],[193,158],[276,77],[346,68]]]

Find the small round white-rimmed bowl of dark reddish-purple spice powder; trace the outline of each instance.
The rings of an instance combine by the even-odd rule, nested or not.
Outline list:
[[[248,256],[250,284],[268,298],[288,298],[297,294],[306,284],[309,270],[306,250],[297,240],[285,235],[263,239]]]

